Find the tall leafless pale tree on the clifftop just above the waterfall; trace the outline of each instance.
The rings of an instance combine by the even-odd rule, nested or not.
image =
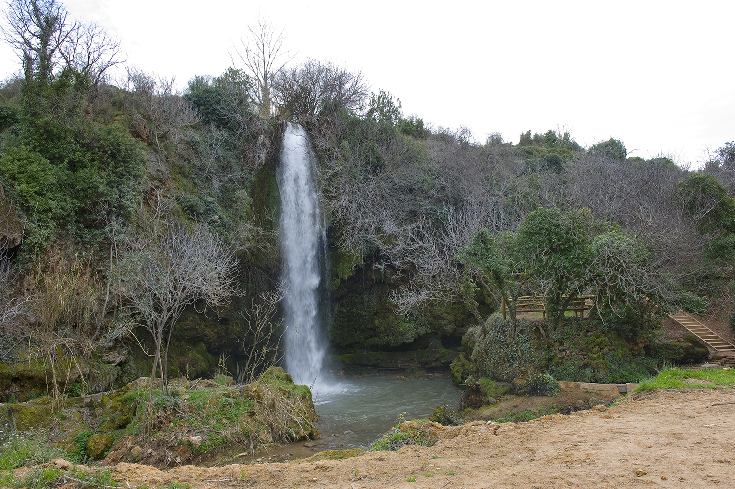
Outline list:
[[[270,117],[270,85],[273,76],[293,59],[290,51],[283,50],[283,32],[268,19],[259,18],[257,26],[248,26],[247,38],[241,38],[242,50],[235,49],[235,54],[245,65],[249,74],[257,83],[259,99],[259,115]]]

